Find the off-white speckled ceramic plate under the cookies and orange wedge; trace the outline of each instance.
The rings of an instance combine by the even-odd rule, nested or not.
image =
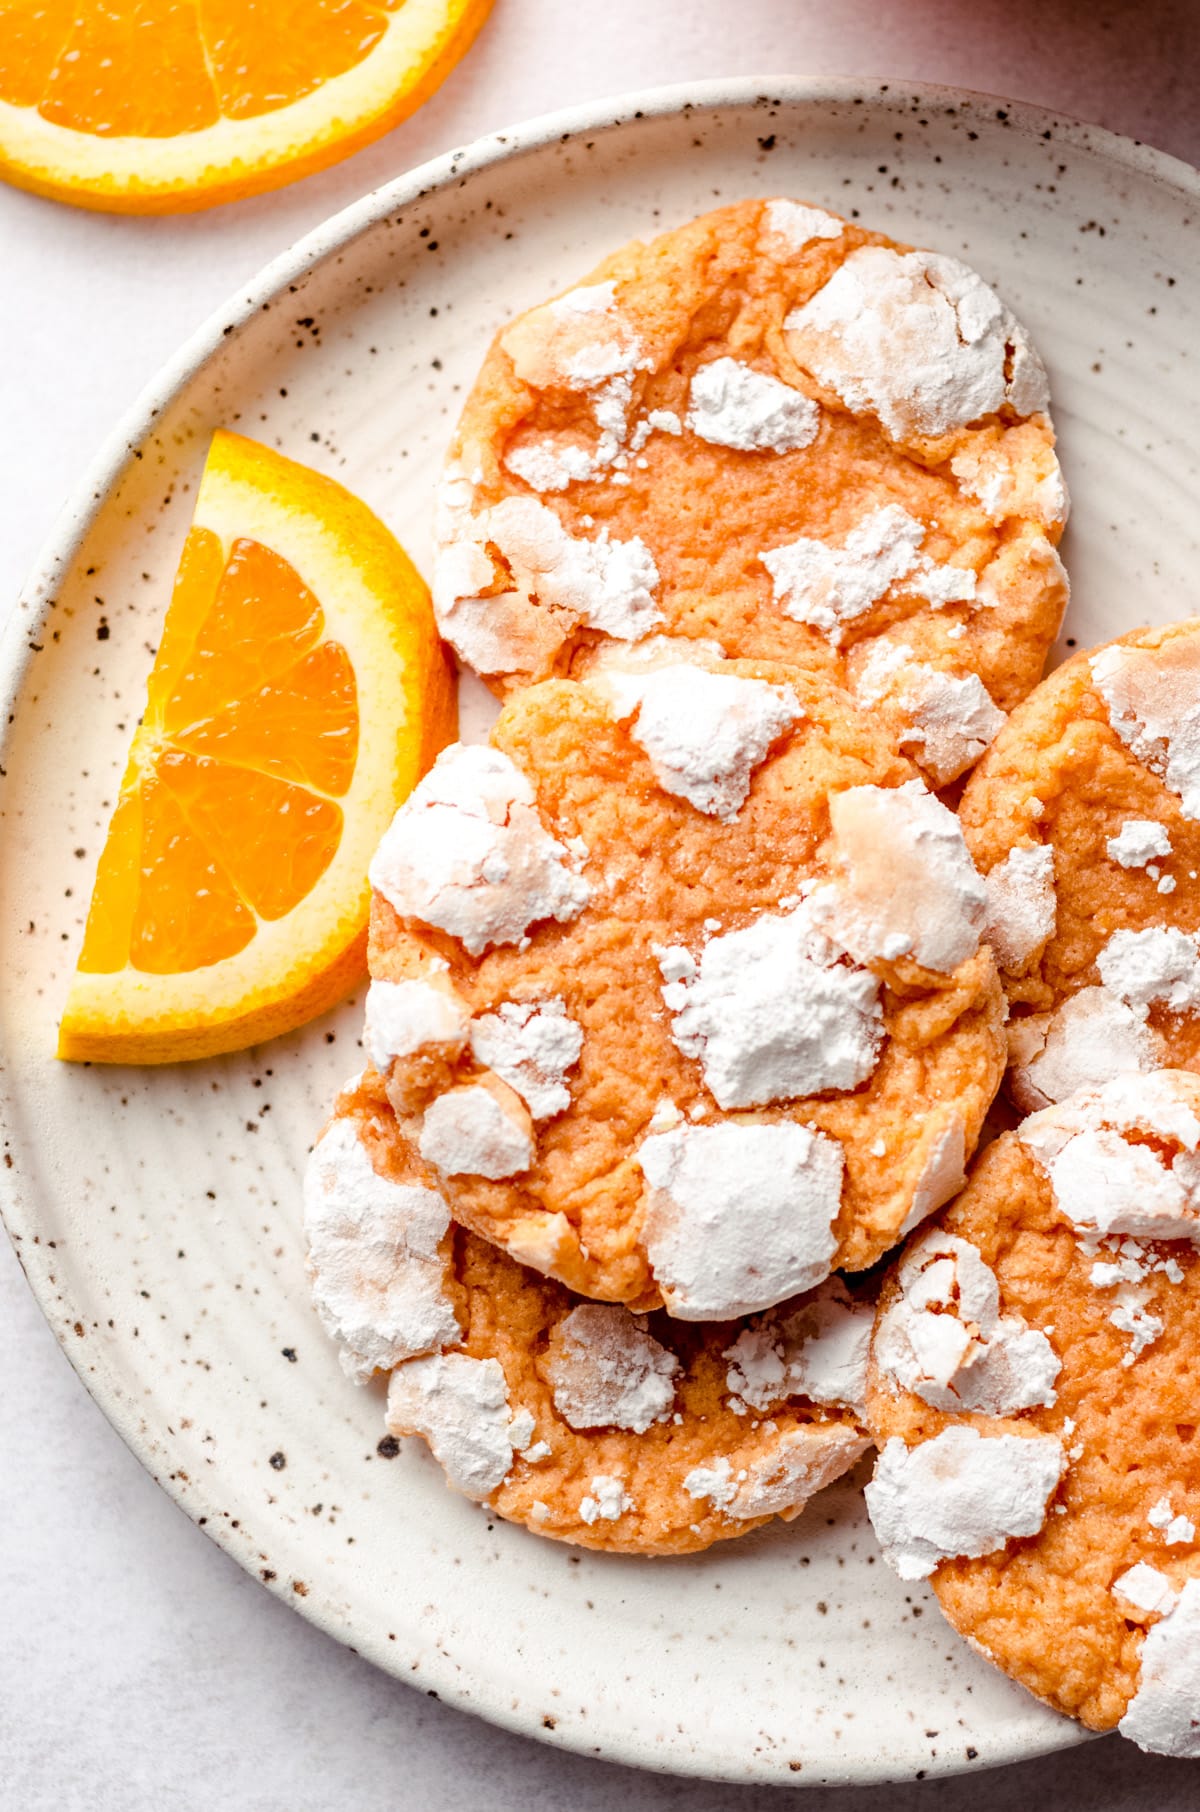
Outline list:
[[[1079,1730],[876,1558],[854,1486],[691,1560],[538,1542],[384,1460],[308,1305],[299,1174],[361,1007],[194,1067],[53,1058],[92,868],[208,431],[364,496],[428,554],[488,337],[633,234],[796,194],[961,254],[1046,355],[1075,495],[1080,645],[1191,614],[1200,179],[981,96],[770,80],[484,140],[272,265],[158,379],[56,529],[2,654],[5,1218],[87,1388],[245,1567],[381,1667],[587,1754],[729,1779],[877,1781]],[[107,634],[100,632],[107,629]]]

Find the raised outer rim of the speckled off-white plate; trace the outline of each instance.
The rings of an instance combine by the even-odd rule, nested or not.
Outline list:
[[[595,136],[600,132],[616,132],[633,127],[642,120],[663,118],[671,114],[707,114],[738,107],[767,109],[774,105],[787,105],[812,111],[819,111],[821,107],[845,107],[847,103],[879,103],[894,107],[897,94],[906,96],[908,103],[930,103],[941,109],[955,107],[964,116],[977,116],[988,123],[993,123],[999,114],[999,118],[1002,118],[1017,136],[1033,138],[1053,132],[1055,138],[1068,147],[1080,150],[1086,149],[1093,156],[1100,156],[1102,159],[1140,176],[1149,176],[1164,188],[1184,192],[1200,203],[1200,172],[1182,159],[1173,158],[1167,152],[1155,150],[1138,140],[1124,138],[1122,134],[1109,132],[1104,127],[1093,127],[1064,118],[1050,109],[1013,103],[979,91],[883,78],[830,78],[805,82],[801,78],[789,76],[747,76],[738,80],[712,80],[656,87],[647,89],[645,92],[633,92],[613,100],[569,107],[553,114],[542,114],[537,120],[509,127],[502,132],[489,132],[468,147],[446,152],[430,163],[422,163],[415,170],[395,178],[392,183],[368,192],[359,201],[330,216],[330,219],[308,232],[285,254],[265,265],[263,270],[250,279],[250,283],[239,288],[228,303],[218,308],[183,342],[174,359],[167,361],[158,375],[143,388],[136,402],[116,422],[111,435],[103,440],[100,451],[87,467],[83,478],[60,511],[42,554],[4,625],[4,632],[0,634],[0,761],[7,752],[9,727],[15,721],[16,705],[31,665],[33,651],[29,643],[36,641],[42,627],[45,625],[58,578],[74,560],[74,554],[92,527],[94,518],[103,509],[111,489],[120,482],[127,464],[136,457],[141,442],[152,433],[156,417],[161,415],[183,386],[199,373],[203,364],[223,344],[223,341],[230,335],[237,335],[237,332],[263,308],[263,304],[274,301],[290,283],[297,283],[301,277],[308,275],[326,257],[350,245],[355,237],[368,232],[388,216],[395,216],[397,212],[413,207],[422,198],[460,183],[468,176],[475,176],[480,170],[500,163],[520,159],[555,141],[575,138],[578,134]],[[0,1136],[7,1142],[11,1131],[13,1129],[4,1111],[4,1100],[0,1098]],[[29,1198],[18,1185],[15,1174],[7,1171],[0,1171],[0,1218],[13,1238],[18,1263],[25,1272],[38,1306],[54,1330],[54,1337],[60,1341],[78,1377],[103,1410],[112,1428],[141,1460],[150,1477],[174,1499],[174,1502],[179,1504],[179,1508],[185,1509],[194,1522],[203,1524],[205,1535],[225,1547],[227,1553],[230,1553],[247,1571],[254,1575],[252,1560],[228,1538],[225,1538],[223,1524],[214,1515],[218,1506],[212,1493],[192,1488],[192,1491],[185,1497],[181,1488],[172,1484],[170,1477],[163,1475],[156,1464],[156,1437],[140,1422],[131,1406],[131,1399],[123,1399],[121,1393],[111,1386],[107,1368],[102,1366],[87,1372],[63,1339],[62,1285],[54,1287],[49,1276],[53,1252],[36,1241],[38,1201]],[[205,1518],[208,1520],[205,1522]],[[350,1631],[343,1624],[326,1616],[317,1598],[301,1602],[292,1598],[288,1602],[295,1611],[299,1611],[301,1616],[315,1624],[326,1634],[335,1636],[339,1642],[348,1642],[350,1636],[355,1636],[353,1645],[357,1653],[364,1654],[386,1672],[404,1678],[404,1656],[402,1653],[397,1654],[395,1645],[373,1642],[366,1633],[359,1638],[359,1633]],[[535,1736],[538,1741],[547,1741],[555,1747],[582,1747],[573,1743],[569,1738],[564,1741],[564,1738],[553,1736],[538,1720],[533,1720],[524,1707],[513,1711],[513,1705],[504,1692],[497,1691],[488,1680],[473,1680],[469,1685],[464,1685],[459,1669],[450,1662],[439,1667],[437,1656],[433,1654],[426,1656],[422,1680],[426,1680],[428,1687],[433,1687],[448,1703],[471,1711],[489,1723],[497,1723],[524,1736]],[[1015,1738],[1010,1750],[1004,1750],[1002,1745],[999,1745],[990,1759],[993,1767],[1006,1761],[1031,1759],[1039,1754],[1048,1754],[1057,1749],[1086,1741],[1089,1734],[1091,1732],[1086,1732],[1082,1727],[1062,1720],[1059,1727],[1051,1727],[1046,1740],[1030,1741],[1028,1738]],[[696,1774],[709,1779],[731,1781],[745,1781],[747,1778],[745,1758],[740,1754],[729,1756],[727,1765],[720,1769],[712,1758],[702,1756],[696,1756],[694,1765],[689,1767],[689,1759],[685,1756],[673,1756],[667,1761],[654,1750],[651,1741],[644,1741],[634,1730],[622,1732],[620,1740],[609,1740],[598,1749],[589,1745],[587,1754],[600,1754],[604,1759],[622,1761],[631,1767],[644,1767],[654,1772]],[[944,1763],[934,1765],[928,1772],[953,1774],[963,1767],[966,1767],[966,1763],[946,1756]],[[903,1767],[897,1772],[888,1758],[881,1756],[874,1767],[857,1765],[827,1774],[825,1785],[832,1779],[845,1781],[847,1785],[883,1785],[906,1778],[908,1774]],[[778,1783],[801,1785],[796,1779]]]

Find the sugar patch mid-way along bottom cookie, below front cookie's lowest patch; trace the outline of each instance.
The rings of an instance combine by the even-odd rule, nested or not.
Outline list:
[[[627,1308],[580,1303],[556,1325],[546,1355],[555,1408],[571,1428],[644,1435],[674,1408],[674,1354]]]

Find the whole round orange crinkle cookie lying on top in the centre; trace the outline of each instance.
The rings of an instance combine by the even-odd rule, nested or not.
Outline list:
[[[440,756],[372,864],[366,1051],[457,1221],[716,1321],[944,1201],[1004,1040],[957,819],[825,681],[680,647]]]

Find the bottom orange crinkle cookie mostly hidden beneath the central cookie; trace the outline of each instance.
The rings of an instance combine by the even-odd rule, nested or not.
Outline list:
[[[790,1520],[870,1446],[872,1316],[839,1283],[707,1326],[585,1303],[453,1227],[402,1151],[379,1080],[352,1084],[305,1180],[314,1297],[459,1491],[537,1535],[682,1555]]]

